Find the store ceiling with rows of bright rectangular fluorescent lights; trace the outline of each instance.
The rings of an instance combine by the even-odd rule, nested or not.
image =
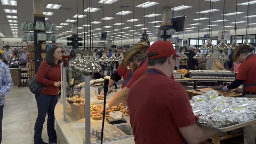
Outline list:
[[[0,37],[21,37],[24,33],[20,30],[21,23],[23,21],[33,21],[33,1],[32,0],[22,0],[22,1],[11,1],[11,0],[0,0]],[[100,3],[100,2],[103,2]],[[222,30],[222,19],[223,19],[223,4],[224,0],[211,0],[212,1],[212,12],[211,17],[211,30]],[[114,3],[112,3],[114,2]],[[153,5],[148,4],[153,2]],[[247,22],[247,0],[238,0],[237,5],[237,29],[246,28]],[[250,1],[250,21],[249,28],[256,27],[256,11],[254,7],[256,6],[256,1]],[[17,4],[13,6],[10,4]],[[108,4],[107,4],[108,3]],[[112,3],[112,4],[109,4]],[[154,3],[157,3],[154,5]],[[235,17],[236,12],[236,0],[226,0],[226,13],[233,13],[226,15],[226,30],[235,29]],[[9,4],[9,5],[4,5]],[[48,4],[58,4],[61,5],[48,5]],[[138,7],[138,5],[141,5]],[[55,9],[46,9],[46,6],[53,7]],[[146,8],[144,8],[144,6]],[[185,8],[183,8],[185,5]],[[199,25],[199,31],[209,30],[209,16],[210,13],[207,10],[210,9],[210,0],[200,0],[199,12],[199,0],[44,0],[44,12],[46,13],[46,22],[53,22],[57,25],[58,30],[55,34],[60,39],[66,39],[66,37],[71,35],[71,23],[72,21],[77,22],[77,18],[74,17],[77,14],[81,16],[78,18],[78,33],[79,36],[84,36],[83,25],[89,25],[89,13],[84,12],[86,15],[83,19],[83,10],[87,7],[97,8],[95,12],[91,13],[91,37],[93,39],[100,39],[100,33],[102,32],[103,26],[109,26],[104,28],[108,32],[108,39],[114,37],[114,40],[118,39],[132,39],[140,38],[143,31],[146,29],[149,36],[155,36],[155,29],[158,29],[162,21],[162,11],[164,6],[174,7],[174,17],[179,17],[185,15],[185,25],[184,33],[198,33],[198,25],[193,25],[194,23],[202,23]],[[78,10],[77,10],[78,6]],[[149,6],[149,7],[147,7]],[[59,7],[59,9],[57,9]],[[123,12],[125,15],[118,15],[118,12]],[[49,13],[51,12],[51,13]],[[114,19],[113,17],[114,12]],[[155,14],[159,14],[156,17]],[[52,15],[49,15],[52,14]],[[154,17],[144,17],[145,15],[153,15]],[[14,17],[13,17],[14,16]],[[102,20],[103,17],[110,17],[110,20]],[[198,18],[203,18],[204,20],[195,20]],[[138,21],[129,22],[127,20],[138,19]],[[85,20],[85,22],[84,22]],[[88,21],[88,22],[87,22]],[[155,22],[156,21],[156,22]],[[124,23],[123,25],[118,25]],[[114,25],[113,25],[114,24]],[[192,24],[192,25],[191,25]],[[157,27],[156,27],[157,26]],[[90,27],[85,27],[85,37],[87,38],[88,33],[90,34]],[[134,31],[133,31],[134,30]],[[114,33],[114,34],[113,34]],[[183,32],[181,32],[183,33]],[[206,32],[207,33],[207,32]],[[113,36],[114,35],[114,36]]]

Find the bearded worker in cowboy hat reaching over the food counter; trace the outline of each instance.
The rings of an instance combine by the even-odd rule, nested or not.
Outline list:
[[[123,67],[129,66],[132,69],[133,75],[124,87],[124,89],[117,92],[114,98],[110,99],[106,104],[106,110],[110,107],[118,105],[121,102],[126,103],[129,89],[131,85],[136,82],[142,75],[146,73],[148,60],[146,59],[147,42],[139,42],[125,52]]]

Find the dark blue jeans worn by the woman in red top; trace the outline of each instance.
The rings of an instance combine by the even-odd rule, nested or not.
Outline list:
[[[49,143],[56,142],[57,136],[56,136],[56,131],[54,129],[54,119],[55,119],[54,108],[56,103],[58,102],[58,95],[39,94],[39,95],[36,95],[36,102],[37,102],[38,115],[36,118],[36,124],[34,129],[35,144],[41,144],[43,142],[42,131],[43,131],[43,124],[45,121],[46,113],[48,115],[47,134],[49,137]]]

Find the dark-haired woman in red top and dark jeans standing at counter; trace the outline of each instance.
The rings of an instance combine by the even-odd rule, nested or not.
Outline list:
[[[52,46],[47,52],[46,60],[42,62],[37,72],[36,81],[42,83],[44,86],[41,93],[36,95],[38,115],[35,123],[35,144],[46,143],[42,140],[43,124],[46,114],[48,115],[47,133],[49,143],[57,143],[56,131],[54,129],[54,108],[58,102],[59,87],[61,85],[61,59],[61,49],[58,46]]]

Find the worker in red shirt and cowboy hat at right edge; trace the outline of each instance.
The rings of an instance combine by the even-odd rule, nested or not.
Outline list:
[[[233,52],[233,61],[239,60],[242,64],[239,66],[235,81],[230,85],[223,87],[222,91],[235,89],[243,84],[243,97],[256,98],[256,55],[252,53],[254,47],[240,45]],[[255,144],[256,124],[244,127],[244,143]]]

